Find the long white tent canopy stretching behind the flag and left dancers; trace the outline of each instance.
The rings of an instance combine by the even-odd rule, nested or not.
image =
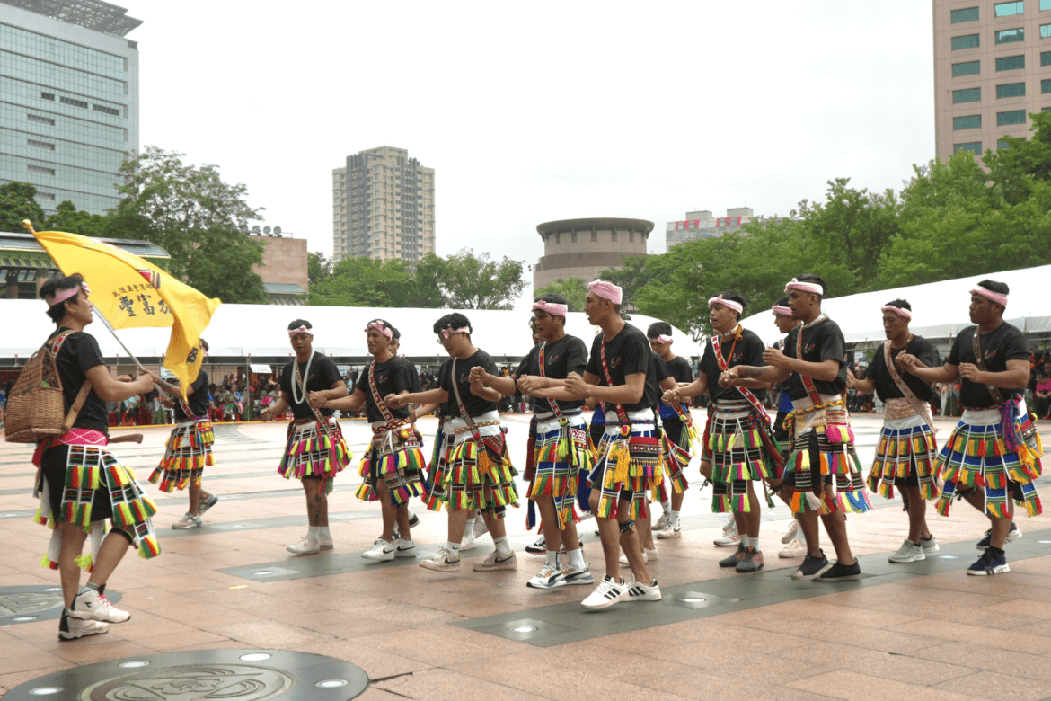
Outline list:
[[[44,313],[43,302],[36,300],[0,300],[0,318],[3,336],[0,339],[0,363],[21,365],[55,330],[54,323]],[[305,318],[313,325],[314,349],[335,358],[364,359],[365,325],[373,318],[384,318],[401,332],[400,353],[417,359],[447,357],[445,350],[435,343],[432,326],[447,309],[374,309],[368,307],[286,307],[269,305],[223,305],[212,316],[204,332],[209,355],[215,358],[251,358],[253,362],[273,363],[288,358],[292,349],[288,342],[287,327],[295,318]],[[497,363],[521,358],[532,347],[528,326],[529,314],[521,311],[458,310],[474,328],[472,341],[486,350]],[[630,324],[646,330],[654,322],[652,316],[632,314]],[[99,342],[107,358],[126,358],[101,322],[87,329]],[[583,313],[571,312],[565,330],[591,347],[596,328],[588,323]],[[122,329],[118,335],[136,357],[156,359],[164,354],[170,329]],[[676,329],[675,351],[686,357],[698,356],[702,349],[689,335]]]

